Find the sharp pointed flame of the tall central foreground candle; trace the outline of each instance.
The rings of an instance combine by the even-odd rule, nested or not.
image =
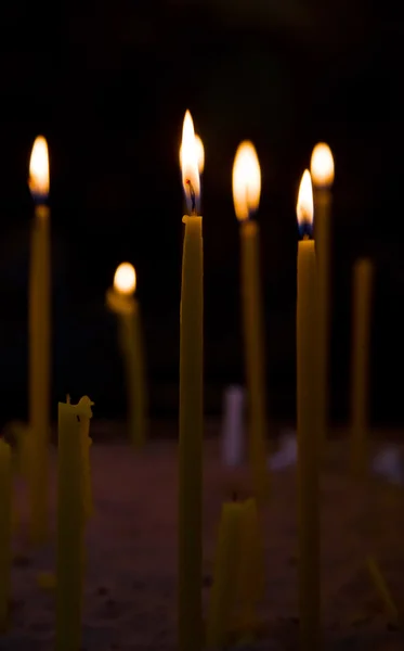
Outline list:
[[[186,111],[184,117],[181,152],[182,184],[185,192],[186,205],[188,210],[195,214],[199,201],[200,180],[194,123],[192,122],[190,111]]]

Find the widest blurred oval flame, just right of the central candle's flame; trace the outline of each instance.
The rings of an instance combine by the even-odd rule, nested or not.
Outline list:
[[[233,202],[237,219],[249,219],[258,209],[261,194],[261,170],[252,142],[239,144],[233,165]]]

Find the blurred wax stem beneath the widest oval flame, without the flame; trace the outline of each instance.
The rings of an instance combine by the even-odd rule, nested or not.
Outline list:
[[[258,234],[258,226],[255,221],[242,222],[242,292],[249,413],[249,456],[255,494],[259,502],[264,502],[269,497],[270,475],[266,463],[265,349]]]

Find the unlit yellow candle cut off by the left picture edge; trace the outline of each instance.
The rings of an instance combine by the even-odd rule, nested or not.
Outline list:
[[[9,624],[12,528],[11,501],[11,447],[3,438],[0,438],[0,633],[4,633]]]

